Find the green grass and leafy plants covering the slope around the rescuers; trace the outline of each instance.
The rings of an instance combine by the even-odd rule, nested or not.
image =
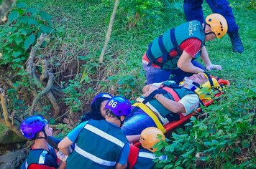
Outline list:
[[[0,53],[3,54],[0,55],[0,87],[6,90],[9,112],[16,113],[12,118],[16,126],[29,113],[34,97],[50,79],[47,77],[36,86],[25,71],[29,52],[42,32],[49,37],[35,54],[35,72],[41,76],[42,60],[47,60],[47,69],[55,77],[50,91],[60,105],[58,116],[78,119],[98,92],[124,95],[130,100],[140,95],[145,84],[141,58],[147,45],[167,29],[185,21],[181,0],[119,1],[104,62],[99,63],[114,1],[19,2],[27,5],[15,6],[9,20],[0,26]],[[205,108],[208,117],[200,121],[192,118],[186,130],[173,132],[168,143],[157,145],[164,146],[163,153],[169,157],[168,161],[158,162],[158,168],[196,168],[198,159],[206,168],[256,167],[256,5],[252,0],[232,1],[231,5],[240,26],[244,52],[233,53],[228,36],[207,42],[206,48],[213,64],[224,68],[211,74],[228,79],[232,85],[217,104]],[[24,13],[24,6],[30,14]],[[206,5],[204,11],[211,13]],[[43,95],[35,111],[58,124],[60,118],[52,114],[55,105],[50,101]],[[65,127],[68,126],[58,125],[59,129]]]

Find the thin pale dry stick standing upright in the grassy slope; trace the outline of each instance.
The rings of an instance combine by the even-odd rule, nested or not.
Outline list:
[[[99,57],[99,62],[101,62],[101,63],[103,62],[104,53],[106,51],[106,46],[108,45],[109,40],[110,40],[112,26],[113,26],[113,23],[114,23],[114,16],[116,15],[116,9],[117,9],[118,4],[119,4],[119,0],[116,0],[115,3],[114,3],[114,9],[112,11],[111,18],[110,18],[110,21],[109,21],[109,28],[108,28],[108,32],[106,34],[106,40],[105,40],[105,43],[104,43],[104,47],[101,51],[101,56]]]

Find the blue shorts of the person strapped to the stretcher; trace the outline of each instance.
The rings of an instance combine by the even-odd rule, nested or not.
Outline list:
[[[142,130],[147,127],[157,127],[149,115],[140,108],[136,107],[136,109],[137,110],[135,112],[127,117],[124,125],[121,127],[124,135],[140,135]]]

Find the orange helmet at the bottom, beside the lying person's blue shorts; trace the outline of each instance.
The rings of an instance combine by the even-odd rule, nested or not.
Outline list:
[[[155,143],[160,140],[157,138],[157,135],[162,135],[162,140],[165,140],[165,135],[161,130],[156,127],[147,127],[140,134],[140,143],[143,148],[150,150],[151,152],[155,152],[157,149],[153,148]]]

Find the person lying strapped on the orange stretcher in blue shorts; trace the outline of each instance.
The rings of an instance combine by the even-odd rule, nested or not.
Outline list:
[[[142,97],[137,98],[131,115],[121,127],[122,132],[127,135],[130,143],[138,142],[142,130],[147,127],[157,127],[150,114],[153,113],[162,125],[179,120],[180,113],[189,115],[198,108],[200,100],[211,99],[205,95],[206,88],[221,90],[217,80],[206,72],[185,77],[183,84],[180,85],[173,81],[147,84],[142,89]]]

